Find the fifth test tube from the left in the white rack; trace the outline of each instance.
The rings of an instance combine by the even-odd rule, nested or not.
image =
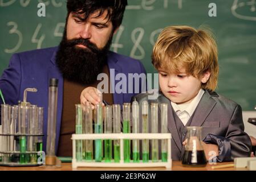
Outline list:
[[[113,104],[113,133],[121,133],[120,105]],[[114,140],[114,162],[120,162],[120,140]]]

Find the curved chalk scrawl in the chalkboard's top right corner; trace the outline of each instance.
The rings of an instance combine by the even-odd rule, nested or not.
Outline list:
[[[256,2],[255,0],[250,0],[250,1],[238,1],[234,0],[233,5],[231,6],[231,13],[239,18],[239,19],[244,19],[244,20],[252,20],[256,21],[256,8],[255,8]],[[244,14],[239,14],[237,11],[239,9],[247,7],[249,13],[254,13],[253,15],[244,15]]]

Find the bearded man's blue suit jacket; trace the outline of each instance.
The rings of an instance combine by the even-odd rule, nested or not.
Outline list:
[[[9,68],[5,69],[0,78],[0,89],[5,97],[6,104],[17,105],[18,101],[23,101],[23,92],[26,88],[36,88],[38,92],[27,94],[27,102],[44,108],[43,123],[43,148],[46,151],[47,139],[47,113],[48,113],[48,82],[50,78],[58,78],[58,109],[56,124],[56,149],[58,148],[60,124],[62,118],[63,104],[63,77],[55,64],[55,55],[58,47],[38,49],[22,53],[15,53],[9,63]],[[111,72],[112,90],[119,80],[115,80],[118,73],[123,73],[128,78],[128,73],[145,73],[143,64],[140,61],[119,55],[114,52],[108,53],[108,68],[115,69]],[[120,74],[121,76],[123,74]],[[124,76],[123,75],[123,76]],[[115,80],[115,81],[113,81]],[[124,81],[124,80],[123,80]],[[126,82],[126,87],[133,86],[135,90],[135,82]],[[132,84],[132,85],[131,85]],[[141,84],[141,83],[140,83]],[[141,92],[141,89],[139,90]],[[115,104],[123,104],[130,102],[136,93],[113,93],[113,101]],[[2,101],[0,101],[2,103]],[[74,106],[75,107],[75,106]],[[74,118],[75,119],[75,118]]]

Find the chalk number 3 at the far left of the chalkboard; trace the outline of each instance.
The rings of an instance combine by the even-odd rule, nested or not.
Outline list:
[[[11,30],[9,31],[9,34],[17,34],[18,35],[18,41],[17,41],[16,46],[14,46],[14,48],[12,48],[12,49],[7,49],[6,48],[5,52],[6,53],[14,53],[19,49],[19,47],[21,47],[23,36],[22,36],[22,33],[18,30],[18,24],[17,23],[8,22],[7,26],[13,26],[13,28],[11,28]]]

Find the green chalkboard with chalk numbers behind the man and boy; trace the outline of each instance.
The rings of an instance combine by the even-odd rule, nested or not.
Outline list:
[[[38,3],[46,4],[39,17]],[[217,16],[209,16],[210,3]],[[139,59],[148,73],[153,44],[162,28],[207,25],[216,34],[220,77],[218,93],[238,102],[243,110],[256,105],[256,11],[254,0],[128,0],[112,51]],[[52,47],[62,38],[64,0],[0,0],[0,74],[15,52]]]

